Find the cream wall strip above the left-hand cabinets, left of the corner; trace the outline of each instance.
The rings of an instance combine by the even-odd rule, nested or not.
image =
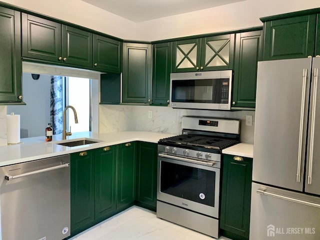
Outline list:
[[[135,23],[81,0],[1,0],[21,8],[123,39],[135,39]]]

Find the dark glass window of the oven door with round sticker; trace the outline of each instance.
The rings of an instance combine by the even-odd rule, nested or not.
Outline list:
[[[214,207],[215,171],[161,161],[160,191]]]

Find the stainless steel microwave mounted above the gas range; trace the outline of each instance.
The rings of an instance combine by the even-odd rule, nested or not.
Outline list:
[[[170,74],[173,108],[230,110],[232,70]]]

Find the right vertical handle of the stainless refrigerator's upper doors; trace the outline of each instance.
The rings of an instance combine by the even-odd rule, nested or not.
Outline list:
[[[310,155],[307,184],[312,184],[312,165],[313,165],[313,148],[314,148],[314,124],[315,124],[315,109],[316,109],[316,94],[318,85],[319,68],[314,68],[314,84],[312,90],[312,109],[311,109],[311,133],[310,133]]]

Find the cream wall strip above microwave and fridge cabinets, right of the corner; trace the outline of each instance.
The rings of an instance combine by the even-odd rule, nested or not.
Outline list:
[[[137,24],[139,40],[160,40],[260,26],[260,17],[320,7],[319,0],[245,0]],[[147,29],[147,30],[146,30]]]

